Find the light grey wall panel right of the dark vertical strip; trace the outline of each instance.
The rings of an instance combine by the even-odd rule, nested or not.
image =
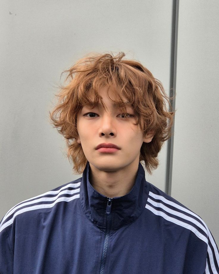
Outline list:
[[[219,244],[219,2],[180,1],[172,196]]]

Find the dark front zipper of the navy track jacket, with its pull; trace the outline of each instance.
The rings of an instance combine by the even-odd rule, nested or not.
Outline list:
[[[110,226],[111,226],[111,220],[112,220],[111,205],[112,205],[112,198],[107,198],[107,208],[106,208],[107,227],[106,227],[106,234],[105,234],[103,252],[101,257],[100,274],[104,274],[104,267],[105,267],[106,258],[107,258],[107,247],[109,242]]]

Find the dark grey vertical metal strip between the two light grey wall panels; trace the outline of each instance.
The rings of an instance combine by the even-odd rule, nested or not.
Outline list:
[[[171,29],[171,53],[170,53],[170,103],[175,111],[176,96],[176,65],[177,65],[177,41],[178,41],[178,21],[179,21],[179,0],[173,0],[172,4],[172,29]],[[174,119],[172,126],[172,136],[167,141],[167,164],[165,192],[171,195],[172,173],[173,173],[173,141],[174,141]]]

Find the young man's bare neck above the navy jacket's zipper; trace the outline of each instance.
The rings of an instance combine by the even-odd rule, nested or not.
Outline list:
[[[105,172],[90,164],[89,180],[93,188],[110,198],[126,195],[132,189],[138,172],[137,168]]]

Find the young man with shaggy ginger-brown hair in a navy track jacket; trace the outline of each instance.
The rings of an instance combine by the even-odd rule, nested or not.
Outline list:
[[[219,273],[206,224],[145,180],[173,112],[162,84],[123,57],[88,56],[66,71],[50,116],[83,174],[5,215],[0,273]]]

